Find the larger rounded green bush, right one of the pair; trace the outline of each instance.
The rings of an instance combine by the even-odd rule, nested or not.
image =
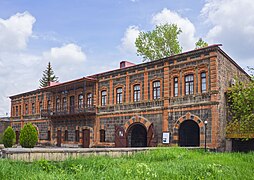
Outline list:
[[[38,132],[34,125],[27,123],[20,131],[20,145],[24,148],[33,148],[38,141]]]

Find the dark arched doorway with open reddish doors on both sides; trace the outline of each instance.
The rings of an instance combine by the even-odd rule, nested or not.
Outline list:
[[[147,131],[142,124],[133,124],[128,130],[128,146],[129,147],[146,147]]]

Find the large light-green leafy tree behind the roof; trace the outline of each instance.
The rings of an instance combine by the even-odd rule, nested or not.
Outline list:
[[[182,52],[178,35],[182,32],[176,24],[156,26],[153,31],[140,32],[135,41],[137,55],[143,61],[153,61]]]

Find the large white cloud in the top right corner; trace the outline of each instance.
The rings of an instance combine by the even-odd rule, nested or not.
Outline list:
[[[229,54],[244,61],[243,66],[254,56],[253,12],[253,0],[207,0],[201,11],[210,26],[206,39],[222,43]]]

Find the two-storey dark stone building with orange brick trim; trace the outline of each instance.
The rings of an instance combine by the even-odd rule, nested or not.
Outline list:
[[[201,49],[11,96],[16,134],[26,122],[40,143],[58,146],[225,148],[225,92],[249,76],[220,47]]]

